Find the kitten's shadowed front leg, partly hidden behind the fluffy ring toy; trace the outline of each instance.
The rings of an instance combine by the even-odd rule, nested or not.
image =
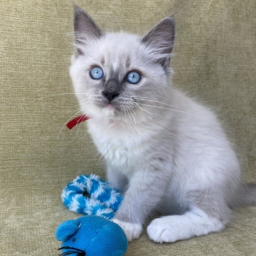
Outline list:
[[[128,179],[125,177],[120,170],[117,170],[114,166],[107,166],[107,180],[110,185],[124,193],[128,186]]]

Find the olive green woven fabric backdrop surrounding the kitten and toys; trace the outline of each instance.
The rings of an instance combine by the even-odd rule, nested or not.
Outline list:
[[[234,142],[247,182],[256,182],[256,1],[78,0],[101,28],[146,33],[174,14],[174,84],[211,106]],[[59,223],[77,218],[62,206],[76,175],[104,175],[69,78],[72,2],[0,1],[0,255],[54,256]],[[144,234],[128,256],[256,255],[256,208],[222,233],[158,245]]]

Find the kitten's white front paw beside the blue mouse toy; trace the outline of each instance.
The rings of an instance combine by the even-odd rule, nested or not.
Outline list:
[[[112,219],[113,222],[117,223],[125,232],[128,241],[137,239],[142,233],[142,225],[136,223],[124,222],[119,219]]]

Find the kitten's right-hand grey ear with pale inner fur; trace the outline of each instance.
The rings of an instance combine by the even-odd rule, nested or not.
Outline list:
[[[142,38],[142,43],[149,46],[156,57],[156,61],[164,68],[168,68],[170,64],[174,37],[174,18],[167,17],[160,21]]]

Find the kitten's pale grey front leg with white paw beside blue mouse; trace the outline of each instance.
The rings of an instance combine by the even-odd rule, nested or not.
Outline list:
[[[168,184],[166,177],[159,170],[139,171],[132,176],[113,219],[124,230],[128,241],[141,235],[143,223],[165,193]]]

